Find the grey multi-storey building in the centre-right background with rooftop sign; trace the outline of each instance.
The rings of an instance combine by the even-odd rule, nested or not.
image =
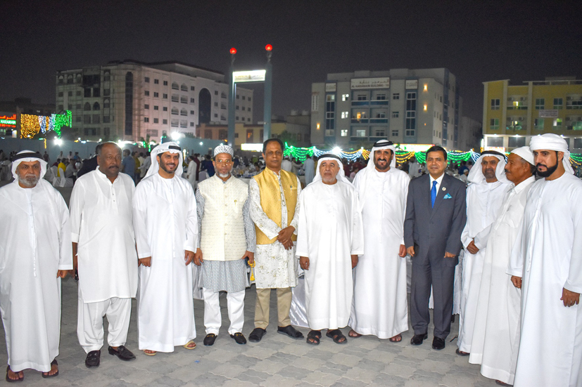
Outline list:
[[[439,144],[456,149],[462,98],[445,68],[327,74],[312,84],[313,145]]]

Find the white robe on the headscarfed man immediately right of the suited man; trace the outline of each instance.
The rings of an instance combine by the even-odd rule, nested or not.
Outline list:
[[[482,183],[472,183],[467,188],[467,224],[461,235],[465,251],[462,258],[461,308],[459,339],[457,340],[457,346],[463,352],[471,352],[483,260],[485,259],[491,224],[497,218],[503,197],[511,186],[512,183],[502,183],[501,181],[495,183],[483,181]],[[467,246],[473,240],[479,249],[477,254],[471,254],[467,250]]]

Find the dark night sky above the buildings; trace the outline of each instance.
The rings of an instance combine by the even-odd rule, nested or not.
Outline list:
[[[483,81],[582,78],[581,1],[6,1],[0,100],[54,103],[56,70],[178,60],[261,68],[272,44],[273,114],[310,107],[329,72],[448,67],[463,114],[481,121]],[[341,5],[345,4],[345,5]],[[262,86],[255,122],[262,121]],[[258,102],[257,102],[258,101]]]

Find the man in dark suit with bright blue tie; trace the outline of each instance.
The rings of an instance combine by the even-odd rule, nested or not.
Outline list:
[[[410,319],[415,346],[428,338],[429,296],[434,296],[434,349],[445,348],[453,315],[455,265],[462,248],[461,232],[467,221],[466,188],[445,174],[447,152],[439,146],[426,151],[428,175],[408,185],[404,242],[412,256]]]

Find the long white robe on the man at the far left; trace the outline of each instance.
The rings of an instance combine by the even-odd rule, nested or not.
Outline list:
[[[61,278],[72,269],[69,211],[50,183],[0,188],[0,313],[13,372],[49,372],[61,339]]]

